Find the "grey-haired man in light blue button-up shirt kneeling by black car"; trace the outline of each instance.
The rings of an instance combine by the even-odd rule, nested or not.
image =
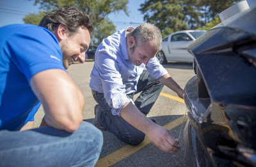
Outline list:
[[[164,152],[177,153],[178,142],[170,132],[146,116],[164,85],[180,98],[184,94],[156,58],[161,41],[159,28],[144,23],[118,31],[98,46],[90,80],[99,104],[95,106],[95,125],[129,145],[139,145],[147,134]],[[133,102],[136,93],[140,96]]]

